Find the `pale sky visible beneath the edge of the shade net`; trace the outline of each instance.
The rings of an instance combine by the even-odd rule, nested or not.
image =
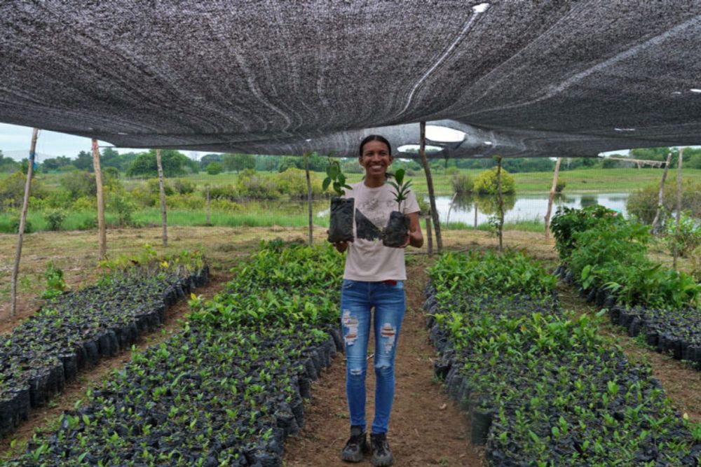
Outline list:
[[[0,123],[0,151],[6,157],[11,157],[16,160],[26,158],[29,154],[29,144],[32,142],[32,127],[21,127],[18,125],[9,125]],[[97,144],[102,146],[112,146],[104,141],[97,141]],[[90,151],[91,142],[88,138],[76,137],[72,134],[50,132],[48,130],[40,130],[39,138],[36,140],[37,160],[41,162],[41,158],[55,158],[59,155],[67,155],[69,158],[76,158],[80,151]],[[130,151],[141,152],[144,149],[119,148],[120,153],[128,153]],[[189,158],[199,160],[205,155],[198,151],[181,151]],[[610,155],[612,153],[627,154],[626,150],[612,151],[604,153]]]

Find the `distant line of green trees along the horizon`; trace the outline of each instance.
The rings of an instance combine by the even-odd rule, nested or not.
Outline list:
[[[676,165],[679,151],[676,148],[639,148],[629,151],[629,155],[615,155],[618,159],[666,160],[667,153],[672,152],[672,165]],[[193,160],[179,151],[166,149],[161,151],[163,171],[165,176],[182,176],[198,172],[219,174],[221,172],[241,172],[245,169],[255,169],[258,172],[285,172],[290,167],[304,169],[304,158],[277,155],[250,155],[233,153],[205,154],[200,160]],[[690,169],[701,169],[701,148],[686,148],[683,165]],[[327,158],[313,153],[309,157],[309,169],[313,172],[324,172]],[[147,178],[156,176],[156,151],[151,149],[144,152],[118,153],[113,148],[103,148],[100,153],[102,169],[115,175],[124,174],[128,177]],[[554,168],[551,158],[505,158],[503,167],[512,174],[519,172],[548,172]],[[360,173],[362,169],[356,158],[341,160],[343,171]],[[456,167],[458,169],[489,169],[496,165],[492,158],[486,159],[431,159],[431,168],[440,172],[442,169]],[[414,159],[397,160],[395,168],[418,172],[421,164]],[[561,170],[580,168],[614,169],[621,167],[636,167],[635,162],[613,160],[611,158],[565,158]],[[5,158],[0,151],[0,172],[26,171],[27,160],[17,162]],[[72,170],[93,171],[93,157],[88,151],[81,151],[76,158],[61,155],[57,158],[39,160],[36,166],[39,172],[70,172]]]

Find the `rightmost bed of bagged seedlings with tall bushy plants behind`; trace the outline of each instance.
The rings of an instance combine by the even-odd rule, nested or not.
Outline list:
[[[648,259],[645,226],[600,206],[559,210],[553,225],[562,259],[556,276],[630,336],[701,369],[701,284]]]

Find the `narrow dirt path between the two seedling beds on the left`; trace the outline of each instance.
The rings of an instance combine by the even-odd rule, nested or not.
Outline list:
[[[231,279],[229,272],[212,272],[210,283],[204,287],[196,288],[193,292],[210,299],[222,291],[224,284]],[[185,315],[189,313],[187,300],[177,302],[165,312],[165,324],[154,333],[145,335],[137,344],[136,351],[144,351],[147,347],[163,342],[177,333],[182,328]],[[23,450],[22,446],[32,438],[37,431],[54,431],[58,417],[64,410],[72,410],[79,400],[85,398],[88,388],[100,386],[102,382],[115,370],[120,370],[123,365],[131,361],[132,351],[120,352],[114,357],[102,357],[95,368],[84,370],[78,379],[66,384],[66,388],[60,394],[54,396],[45,407],[32,409],[29,412],[29,420],[18,431],[0,440],[0,459],[11,455],[17,450]],[[14,449],[11,445],[15,445]]]

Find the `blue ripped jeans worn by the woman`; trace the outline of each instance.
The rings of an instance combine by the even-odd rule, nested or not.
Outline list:
[[[372,433],[387,433],[394,400],[394,359],[407,302],[404,284],[343,279],[341,326],[346,342],[346,396],[351,425],[365,428],[365,375],[370,309],[375,307],[375,419]]]

